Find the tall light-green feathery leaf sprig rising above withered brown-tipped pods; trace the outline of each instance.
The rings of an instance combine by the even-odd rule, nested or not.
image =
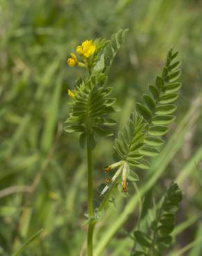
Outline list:
[[[148,157],[159,154],[158,147],[164,143],[161,137],[167,133],[167,125],[175,119],[171,114],[176,111],[174,101],[178,98],[178,89],[181,88],[181,83],[176,82],[181,75],[178,68],[181,63],[176,60],[177,55],[177,51],[173,52],[172,48],[169,50],[162,74],[156,76],[154,84],[149,84],[149,94],[143,95],[143,102],[136,104],[136,110],[115,139],[113,148],[116,159],[122,163],[122,170],[124,166],[127,169],[125,174],[120,172],[122,191],[127,192],[126,177],[137,176],[134,171],[131,172],[131,167],[141,169],[151,167]],[[110,165],[109,169],[112,166]],[[108,188],[109,185],[103,192]]]

